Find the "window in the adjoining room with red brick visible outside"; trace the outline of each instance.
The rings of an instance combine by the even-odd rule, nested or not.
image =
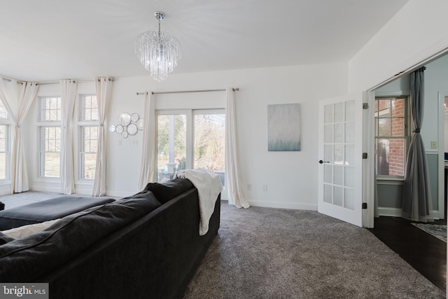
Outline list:
[[[407,97],[375,99],[375,163],[377,176],[402,178],[409,146]]]

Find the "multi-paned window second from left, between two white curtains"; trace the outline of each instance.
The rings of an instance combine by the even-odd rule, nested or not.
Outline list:
[[[61,97],[39,98],[39,175],[59,177],[61,165]]]

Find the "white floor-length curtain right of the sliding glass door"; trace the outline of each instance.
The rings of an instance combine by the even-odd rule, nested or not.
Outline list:
[[[225,107],[225,188],[229,193],[229,204],[237,208],[248,208],[249,204],[239,185],[239,162],[237,156],[237,132],[235,93],[233,88],[226,89]]]

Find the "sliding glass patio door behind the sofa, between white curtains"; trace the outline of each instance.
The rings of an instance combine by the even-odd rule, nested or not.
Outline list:
[[[225,110],[158,111],[158,181],[181,169],[225,174]],[[192,150],[193,148],[193,150]]]

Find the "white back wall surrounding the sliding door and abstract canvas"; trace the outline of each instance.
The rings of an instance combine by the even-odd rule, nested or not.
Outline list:
[[[116,78],[107,125],[116,124],[122,112],[137,112],[143,116],[144,96],[137,95],[137,92],[239,87],[235,94],[238,154],[241,186],[248,201],[267,207],[317,209],[318,100],[346,94],[346,78],[346,63],[180,74],[171,75],[162,83],[153,81],[149,76]],[[93,87],[93,83],[83,84]],[[38,92],[41,96],[58,92],[59,88],[42,87]],[[191,94],[185,97],[186,106],[194,105]],[[156,106],[169,108],[161,102],[163,98],[156,96]],[[267,105],[288,103],[300,103],[301,151],[268,152]],[[31,113],[37,115],[36,109],[37,106],[34,106]],[[36,153],[33,121],[29,122],[27,144]],[[139,191],[143,134],[139,132],[123,139],[116,133],[109,133],[107,138],[107,194],[126,196],[136,193]],[[35,155],[29,154],[28,160],[35,160]],[[31,164],[34,164],[29,174],[31,189],[45,189],[41,180],[37,179],[36,163]],[[247,190],[248,183],[252,185],[252,190]],[[267,191],[262,190],[263,185],[267,185]],[[55,187],[57,184],[48,186]]]

